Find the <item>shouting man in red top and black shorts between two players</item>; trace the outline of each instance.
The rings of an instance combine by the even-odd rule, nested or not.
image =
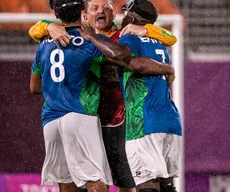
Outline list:
[[[117,41],[121,30],[113,23],[115,14],[112,1],[86,0],[85,3],[86,23],[97,29],[98,33]],[[153,27],[146,26],[150,29]],[[101,81],[100,119],[113,181],[120,187],[120,191],[134,191],[133,187],[136,184],[131,177],[125,155],[125,110],[117,66],[101,66]]]

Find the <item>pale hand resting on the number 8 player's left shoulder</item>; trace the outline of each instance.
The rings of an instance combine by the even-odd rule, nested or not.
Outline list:
[[[71,36],[66,32],[65,27],[59,24],[50,23],[47,26],[47,31],[59,48],[60,45],[66,47],[70,43]]]

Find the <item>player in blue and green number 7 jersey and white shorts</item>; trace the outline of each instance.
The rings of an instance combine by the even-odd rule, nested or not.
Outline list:
[[[129,23],[144,25],[157,19],[155,6],[146,0],[131,0],[123,6],[122,27]],[[118,43],[127,45],[138,56],[169,63],[166,47],[156,39],[124,35]],[[179,173],[180,114],[171,99],[165,77],[140,76],[123,72],[126,106],[126,153],[141,192],[175,192],[173,177]],[[154,183],[155,182],[155,183]]]

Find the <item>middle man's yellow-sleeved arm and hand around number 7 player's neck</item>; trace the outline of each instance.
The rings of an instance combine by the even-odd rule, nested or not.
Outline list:
[[[145,26],[138,26],[128,24],[122,29],[120,37],[125,34],[133,34],[138,36],[147,36],[149,38],[157,39],[166,46],[172,46],[177,42],[177,38],[171,31],[158,27],[153,24],[146,24]]]

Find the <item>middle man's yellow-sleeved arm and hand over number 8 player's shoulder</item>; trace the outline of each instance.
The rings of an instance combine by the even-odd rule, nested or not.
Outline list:
[[[29,30],[29,35],[36,42],[40,42],[42,38],[50,35],[57,45],[61,43],[62,46],[68,45],[71,39],[63,26],[48,20],[42,20],[33,25]]]

